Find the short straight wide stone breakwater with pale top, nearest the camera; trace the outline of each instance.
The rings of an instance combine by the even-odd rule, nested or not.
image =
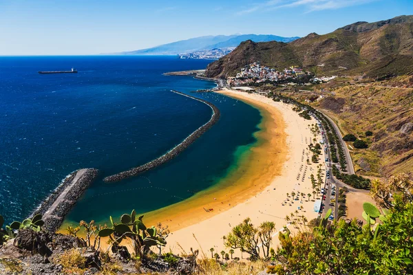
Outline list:
[[[76,201],[97,176],[98,170],[94,168],[74,171],[34,210],[32,216],[42,214],[43,221],[45,221],[43,228],[55,232],[63,223],[66,214],[70,212]]]

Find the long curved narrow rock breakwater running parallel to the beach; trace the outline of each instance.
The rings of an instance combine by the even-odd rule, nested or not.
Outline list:
[[[208,131],[208,129],[210,129],[211,126],[213,126],[213,124],[218,122],[218,120],[220,119],[220,115],[221,115],[220,110],[217,107],[215,107],[215,105],[212,104],[211,102],[208,102],[207,100],[203,100],[200,98],[195,98],[187,94],[183,94],[180,91],[173,91],[173,92],[176,94],[180,94],[181,96],[187,96],[188,98],[192,98],[193,100],[198,100],[204,104],[207,104],[212,109],[211,119],[207,123],[200,126],[200,128],[193,131],[191,135],[189,135],[180,144],[178,144],[177,146],[169,150],[167,153],[165,153],[165,155],[162,155],[156,159],[153,159],[151,162],[147,162],[146,164],[143,164],[141,166],[131,168],[130,170],[126,170],[121,173],[111,175],[109,177],[105,177],[103,181],[105,182],[121,181],[123,179],[134,177],[142,172],[151,170],[157,166],[160,166],[161,164],[165,164],[166,162],[169,162],[169,160],[173,159],[174,157],[182,153],[182,151],[184,151],[186,148],[188,148],[189,145],[195,142],[195,140],[197,140],[203,133]]]

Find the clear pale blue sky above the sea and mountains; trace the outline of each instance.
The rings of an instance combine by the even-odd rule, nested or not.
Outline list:
[[[218,34],[326,34],[413,14],[413,0],[0,0],[0,55],[140,50]]]

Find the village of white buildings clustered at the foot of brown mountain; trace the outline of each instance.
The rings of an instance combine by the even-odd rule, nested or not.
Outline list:
[[[235,77],[227,78],[227,85],[238,87],[242,85],[260,85],[260,83],[283,83],[296,85],[297,83],[322,83],[328,82],[336,76],[315,78],[312,72],[305,72],[299,66],[291,66],[283,71],[277,71],[254,62],[246,65]]]

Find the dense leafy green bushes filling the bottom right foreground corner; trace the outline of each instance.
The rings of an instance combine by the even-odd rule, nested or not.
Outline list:
[[[379,213],[368,203],[364,210]],[[396,195],[387,213],[374,226],[370,219],[376,218],[367,214],[364,226],[341,219],[295,235],[285,230],[279,235],[278,274],[412,274],[413,204]]]

